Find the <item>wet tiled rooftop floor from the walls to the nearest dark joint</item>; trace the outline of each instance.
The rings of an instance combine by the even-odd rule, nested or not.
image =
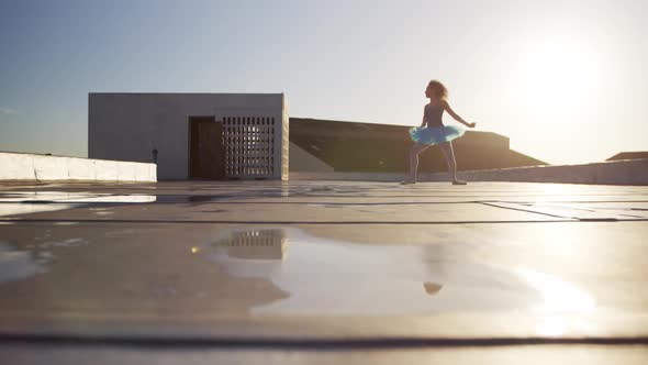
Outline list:
[[[645,349],[647,236],[648,187],[4,182],[0,336]]]

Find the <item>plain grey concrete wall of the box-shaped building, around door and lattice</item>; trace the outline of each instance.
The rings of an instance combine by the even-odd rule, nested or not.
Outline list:
[[[281,122],[281,133],[288,129],[284,109],[282,93],[89,93],[88,157],[150,163],[156,148],[159,179],[183,180],[189,177],[189,117],[270,117]],[[281,150],[288,154],[287,144]],[[279,167],[277,178],[283,175]]]

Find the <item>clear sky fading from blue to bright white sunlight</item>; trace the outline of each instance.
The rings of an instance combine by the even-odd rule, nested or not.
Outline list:
[[[644,0],[0,0],[0,151],[86,156],[88,92],[284,92],[417,125],[427,80],[549,163],[648,151]],[[451,120],[446,119],[446,123]]]

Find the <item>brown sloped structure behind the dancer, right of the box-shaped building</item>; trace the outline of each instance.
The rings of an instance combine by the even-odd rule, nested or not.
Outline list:
[[[406,125],[290,119],[290,141],[336,172],[405,172],[412,146]],[[469,131],[454,143],[459,170],[547,165],[509,148],[509,137]],[[421,154],[421,172],[445,172],[438,148]]]

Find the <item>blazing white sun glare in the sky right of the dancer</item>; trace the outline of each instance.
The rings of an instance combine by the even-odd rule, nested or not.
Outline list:
[[[521,33],[506,69],[506,113],[502,129],[525,151],[549,163],[588,159],[574,141],[592,140],[601,106],[608,98],[608,56],[584,34],[556,30]],[[548,147],[547,143],[551,146]]]

